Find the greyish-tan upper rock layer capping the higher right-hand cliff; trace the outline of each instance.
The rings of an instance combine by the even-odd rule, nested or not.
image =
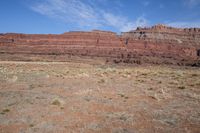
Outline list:
[[[200,46],[200,28],[177,29],[156,25],[151,28],[137,28],[135,31],[123,33],[123,36],[136,40]]]

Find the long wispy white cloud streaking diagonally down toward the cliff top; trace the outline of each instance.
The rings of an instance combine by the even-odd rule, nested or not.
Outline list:
[[[101,8],[98,4],[107,4],[108,0],[39,0],[31,5],[31,9],[42,15],[59,19],[77,27],[90,29],[111,26],[118,31],[129,31],[137,26],[146,26],[144,16],[130,21],[122,15]],[[117,0],[115,6],[123,6]]]

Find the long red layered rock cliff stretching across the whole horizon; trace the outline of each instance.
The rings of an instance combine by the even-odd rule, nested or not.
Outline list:
[[[115,63],[188,64],[199,62],[200,29],[164,25],[113,32],[64,34],[0,34],[2,54],[70,55],[101,57]],[[1,57],[0,55],[0,57]]]

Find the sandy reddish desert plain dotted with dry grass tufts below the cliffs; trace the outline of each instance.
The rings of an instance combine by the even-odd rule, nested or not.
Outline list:
[[[1,133],[199,133],[200,68],[0,62]]]

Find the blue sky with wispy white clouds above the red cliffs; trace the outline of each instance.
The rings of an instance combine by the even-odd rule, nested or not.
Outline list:
[[[200,0],[0,0],[0,33],[200,27]]]

